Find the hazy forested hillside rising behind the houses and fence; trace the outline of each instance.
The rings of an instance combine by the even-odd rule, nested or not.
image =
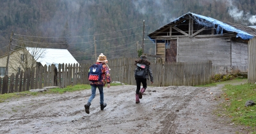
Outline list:
[[[20,47],[68,48],[79,61],[154,54],[147,34],[188,13],[246,26],[255,24],[255,0],[0,0],[0,56]]]

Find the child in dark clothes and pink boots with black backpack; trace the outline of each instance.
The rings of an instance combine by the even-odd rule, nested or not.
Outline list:
[[[151,84],[154,82],[154,78],[152,75],[152,70],[150,68],[150,62],[147,61],[147,56],[141,55],[140,59],[135,61],[136,70],[134,71],[134,77],[136,80],[136,103],[140,103],[140,99],[142,98],[142,94],[147,89],[147,79],[148,75],[150,77]],[[142,88],[140,89],[140,85],[142,83]]]

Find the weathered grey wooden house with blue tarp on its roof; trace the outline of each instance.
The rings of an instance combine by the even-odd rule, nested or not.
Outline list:
[[[186,13],[148,37],[156,43],[156,55],[164,63],[212,61],[217,70],[224,68],[228,73],[234,68],[247,71],[248,41],[255,35],[252,27]]]

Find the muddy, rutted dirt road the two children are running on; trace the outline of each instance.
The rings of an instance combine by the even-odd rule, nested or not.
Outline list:
[[[135,103],[136,86],[104,87],[90,107],[91,91],[26,96],[0,103],[0,133],[244,133],[212,112],[221,87],[148,87]]]

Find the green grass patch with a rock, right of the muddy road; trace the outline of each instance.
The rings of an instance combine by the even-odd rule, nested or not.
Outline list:
[[[251,134],[256,134],[256,105],[252,107],[244,106],[248,100],[256,103],[256,85],[239,84],[239,82],[242,81],[236,79],[219,83],[224,84],[223,94],[221,95],[224,102],[220,104],[216,114],[231,118],[232,123],[242,125]]]

